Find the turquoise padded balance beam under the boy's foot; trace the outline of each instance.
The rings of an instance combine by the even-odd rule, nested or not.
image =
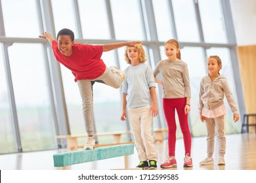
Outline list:
[[[125,157],[125,168],[128,168],[128,155],[134,154],[134,144],[121,144],[95,148],[93,150],[79,150],[73,152],[63,152],[53,155],[54,167],[64,167],[100,159]]]

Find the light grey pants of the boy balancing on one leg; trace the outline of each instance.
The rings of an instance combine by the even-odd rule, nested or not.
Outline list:
[[[87,135],[94,134],[93,129],[93,84],[95,82],[101,82],[113,88],[119,88],[121,86],[121,78],[116,73],[112,73],[108,67],[105,72],[95,78],[94,80],[77,80],[79,92],[83,105],[83,118],[85,121],[85,130]]]

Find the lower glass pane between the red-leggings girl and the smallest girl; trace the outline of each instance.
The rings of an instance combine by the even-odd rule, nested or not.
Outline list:
[[[196,56],[196,58],[193,56]],[[193,137],[199,137],[206,134],[205,124],[201,122],[198,110],[200,82],[207,75],[203,48],[184,47],[181,49],[181,59],[188,64],[190,77],[190,105],[192,110],[189,112],[188,122]]]

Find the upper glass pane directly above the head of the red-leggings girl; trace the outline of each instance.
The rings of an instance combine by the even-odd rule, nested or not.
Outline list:
[[[167,0],[153,0],[154,16],[156,19],[156,29],[158,31],[158,41],[167,41],[173,38],[171,29],[171,17],[169,3]]]

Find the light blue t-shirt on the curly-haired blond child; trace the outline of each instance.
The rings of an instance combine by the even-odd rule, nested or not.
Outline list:
[[[127,94],[128,108],[140,108],[152,104],[151,87],[156,87],[154,75],[150,65],[140,63],[125,69],[125,82],[122,92]]]

